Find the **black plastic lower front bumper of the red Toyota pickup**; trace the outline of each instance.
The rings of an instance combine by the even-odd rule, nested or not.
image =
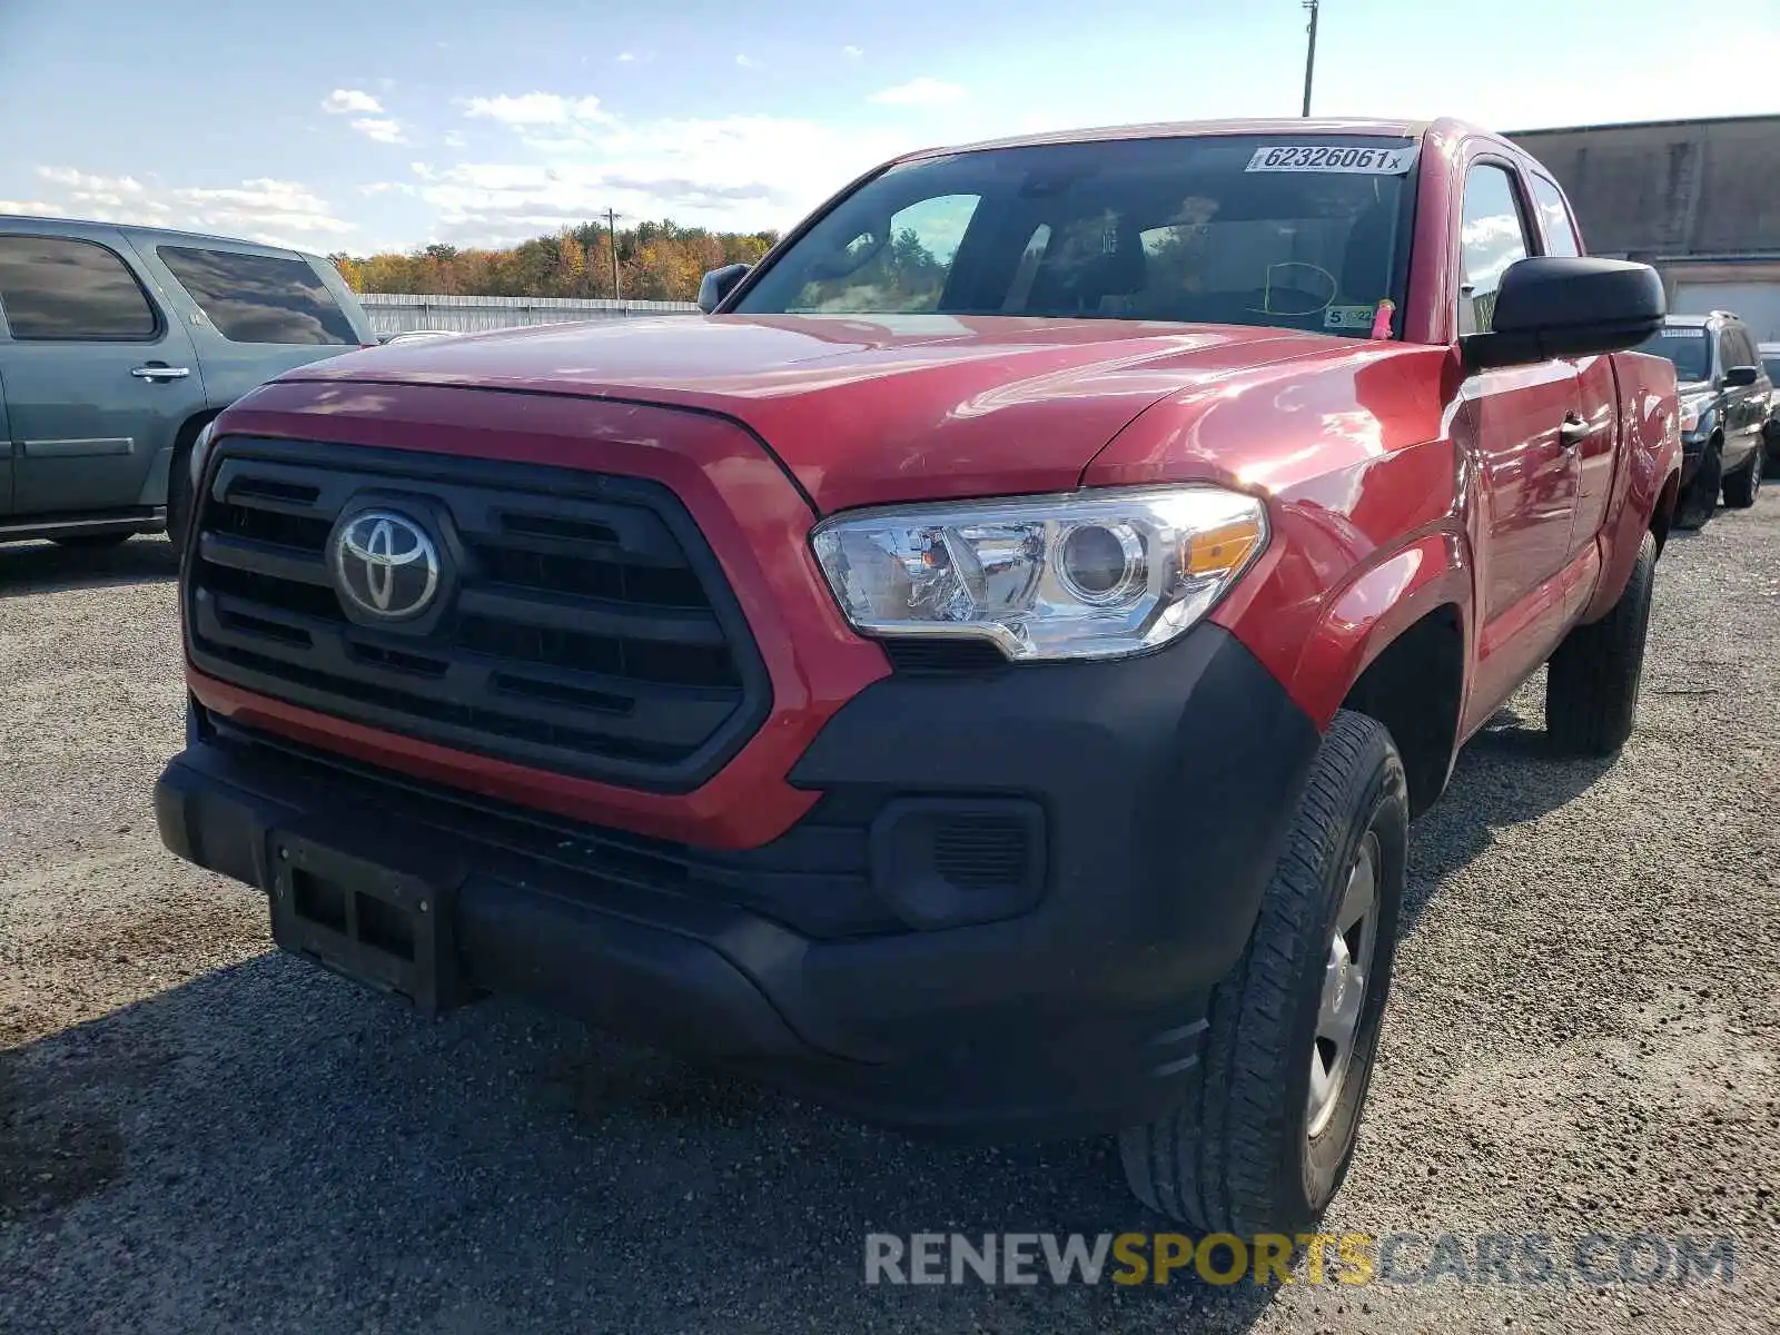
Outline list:
[[[749,854],[545,821],[196,712],[155,808],[174,853],[271,894],[281,945],[422,1006],[514,993],[878,1121],[1075,1134],[1178,1096],[1317,744],[1202,627],[1123,662],[874,684],[792,774],[824,792],[806,828]],[[920,853],[959,806],[1036,842],[1018,874],[968,842]]]

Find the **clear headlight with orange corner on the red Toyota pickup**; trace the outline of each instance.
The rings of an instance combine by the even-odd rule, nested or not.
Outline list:
[[[1116,659],[1166,644],[1267,543],[1253,497],[1214,486],[858,511],[815,559],[869,635],[972,635],[1009,659]]]

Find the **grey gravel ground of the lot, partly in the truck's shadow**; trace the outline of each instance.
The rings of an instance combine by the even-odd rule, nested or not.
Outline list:
[[[1534,684],[1417,826],[1328,1221],[1728,1234],[1732,1283],[894,1289],[862,1283],[870,1230],[1162,1225],[1102,1143],[913,1145],[518,1006],[425,1024],[272,954],[258,899],[155,837],[167,545],[0,548],[0,1330],[1771,1330],[1776,550],[1780,495],[1677,536],[1625,755],[1547,756]]]

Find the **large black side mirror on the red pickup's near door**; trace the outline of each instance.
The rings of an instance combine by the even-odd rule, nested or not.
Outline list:
[[[1518,260],[1502,274],[1490,333],[1463,340],[1474,367],[1623,352],[1663,328],[1668,299],[1646,263],[1575,256]]]

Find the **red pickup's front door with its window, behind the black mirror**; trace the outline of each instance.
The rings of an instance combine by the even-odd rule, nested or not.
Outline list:
[[[1479,157],[1460,205],[1458,335],[1488,333],[1502,274],[1533,255],[1534,230],[1518,171]],[[1572,580],[1570,529],[1586,429],[1572,361],[1472,372],[1456,422],[1477,472],[1477,605],[1472,707],[1486,717],[1556,646]],[[1470,719],[1472,723],[1476,719]]]

